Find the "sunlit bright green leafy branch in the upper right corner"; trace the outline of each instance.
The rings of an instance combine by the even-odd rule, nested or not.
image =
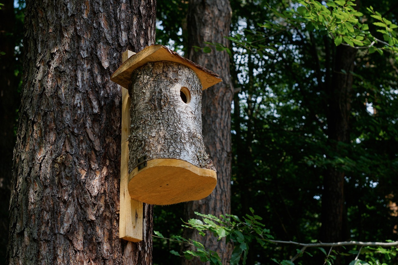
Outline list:
[[[266,21],[259,23],[271,31],[271,34],[264,34],[264,31],[255,31],[254,34],[236,34],[229,37],[234,43],[246,49],[256,49],[262,55],[269,50],[275,51],[275,46],[269,45],[269,38],[284,31],[301,32],[317,31],[320,35],[328,35],[336,46],[349,45],[355,48],[369,49],[369,53],[377,51],[380,55],[384,50],[388,50],[395,55],[398,60],[398,40],[394,29],[398,25],[383,18],[375,11],[372,6],[367,8],[370,16],[377,21],[373,25],[379,27],[378,33],[382,33],[383,41],[375,37],[369,31],[366,16],[357,11],[357,4],[349,0],[328,0],[319,2],[316,0],[294,0],[291,2],[291,9],[279,12],[276,8],[267,6],[269,10],[279,17],[277,21]],[[304,37],[304,36],[301,36]],[[378,47],[377,44],[382,46]]]

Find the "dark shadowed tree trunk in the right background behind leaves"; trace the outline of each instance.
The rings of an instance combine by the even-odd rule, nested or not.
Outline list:
[[[328,140],[331,152],[338,152],[338,142],[349,141],[349,116],[356,49],[337,47],[331,86],[328,89]],[[343,70],[343,71],[342,71]],[[345,72],[344,72],[345,71]],[[329,168],[324,175],[322,194],[322,242],[343,241],[344,172]],[[339,264],[339,259],[336,264]]]

